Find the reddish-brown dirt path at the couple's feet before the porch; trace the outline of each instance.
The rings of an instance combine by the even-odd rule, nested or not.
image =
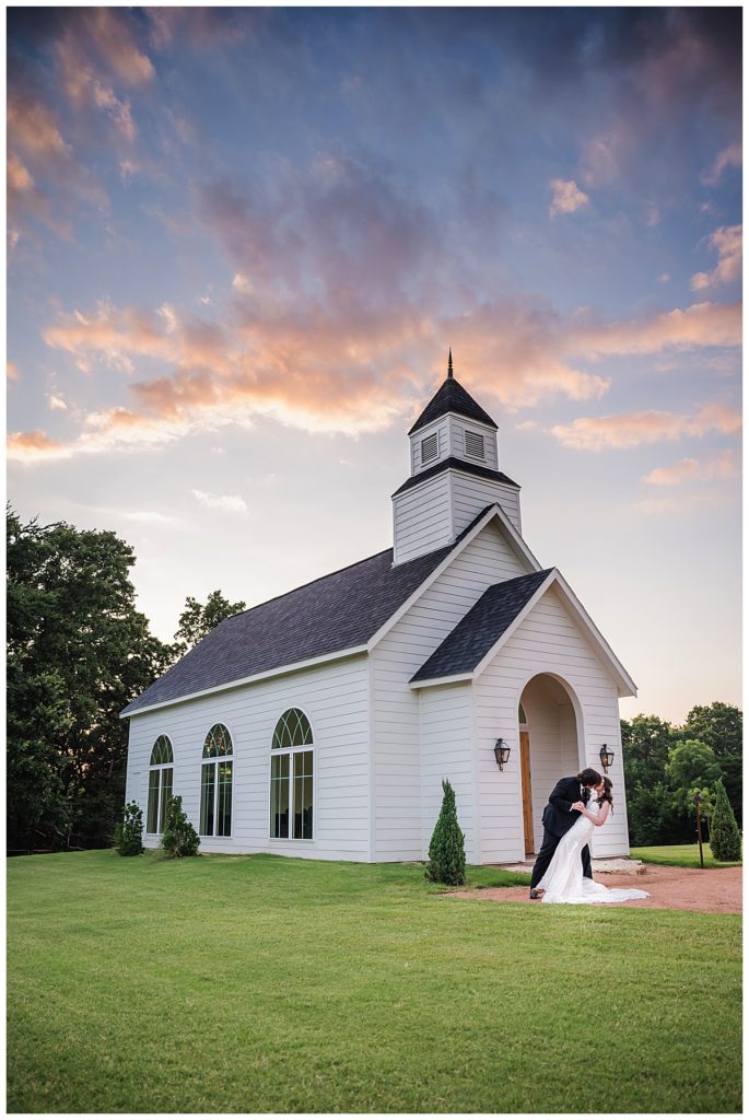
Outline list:
[[[647,890],[649,898],[634,898],[628,903],[607,903],[610,906],[644,907],[649,909],[690,909],[703,914],[741,913],[741,868],[720,870],[691,867],[663,867],[646,865],[645,875],[594,876],[607,887],[637,887]],[[451,890],[451,898],[483,898],[497,903],[531,902],[527,887],[488,887],[486,890]]]

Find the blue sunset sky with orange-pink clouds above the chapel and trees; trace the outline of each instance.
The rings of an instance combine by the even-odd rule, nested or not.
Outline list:
[[[8,11],[8,496],[171,638],[392,544],[446,374],[637,682],[740,703],[741,10]]]

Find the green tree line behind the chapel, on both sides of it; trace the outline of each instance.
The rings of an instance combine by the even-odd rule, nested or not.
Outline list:
[[[213,591],[188,596],[171,643],[135,607],[135,554],[113,532],[7,515],[8,849],[105,847],[122,819],[128,721],[120,712],[224,618]],[[741,821],[741,712],[693,708],[683,727],[621,721],[633,846],[694,840],[696,791],[710,815],[722,778]]]

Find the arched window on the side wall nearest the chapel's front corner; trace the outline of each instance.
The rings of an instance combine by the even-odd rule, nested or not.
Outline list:
[[[271,756],[271,837],[312,839],[312,728],[289,708],[275,725]]]

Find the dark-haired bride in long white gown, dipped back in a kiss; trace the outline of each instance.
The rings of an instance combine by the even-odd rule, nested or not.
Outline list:
[[[602,883],[583,878],[580,853],[592,838],[593,829],[608,820],[614,808],[610,778],[601,778],[593,791],[598,794],[597,801],[588,805],[577,801],[572,805],[580,816],[560,840],[537,887],[539,893],[543,892],[542,900],[545,903],[624,903],[629,898],[649,897],[647,890],[611,889]]]

